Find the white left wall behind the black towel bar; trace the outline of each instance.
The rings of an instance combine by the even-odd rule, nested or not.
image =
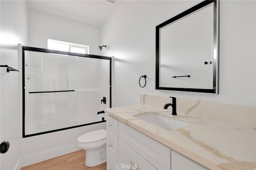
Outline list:
[[[1,3],[1,64],[22,70],[19,64],[20,46],[27,45],[27,13],[24,1],[0,1]],[[20,77],[22,72],[1,72],[1,142],[9,141],[10,149],[1,156],[2,170],[19,169],[20,138],[22,135],[22,93]]]

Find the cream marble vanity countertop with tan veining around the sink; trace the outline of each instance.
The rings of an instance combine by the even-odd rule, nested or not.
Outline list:
[[[166,130],[133,115],[154,111],[189,125]],[[114,107],[105,112],[152,139],[210,169],[256,169],[256,128],[248,123],[205,119],[144,104]],[[251,123],[250,123],[251,124]]]

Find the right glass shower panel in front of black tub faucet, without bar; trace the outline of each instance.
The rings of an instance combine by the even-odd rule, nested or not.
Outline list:
[[[109,60],[78,57],[78,125],[101,121],[97,113],[111,107],[109,66]]]

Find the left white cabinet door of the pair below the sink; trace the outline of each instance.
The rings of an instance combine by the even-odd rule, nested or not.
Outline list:
[[[132,170],[137,168],[137,153],[118,139],[118,168]]]

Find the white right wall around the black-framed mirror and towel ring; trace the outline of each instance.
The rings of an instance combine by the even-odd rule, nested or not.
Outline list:
[[[140,93],[255,106],[255,1],[220,1],[219,95],[155,90],[156,25],[199,2],[124,1],[114,12],[101,32],[101,55],[114,56],[113,107],[138,104]]]

